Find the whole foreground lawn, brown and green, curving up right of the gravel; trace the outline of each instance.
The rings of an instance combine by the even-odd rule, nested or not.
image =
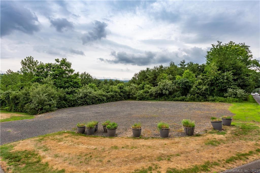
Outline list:
[[[6,172],[219,172],[260,158],[259,105],[234,103],[230,127],[178,138],[56,132],[1,146]],[[241,111],[242,110],[242,111]]]

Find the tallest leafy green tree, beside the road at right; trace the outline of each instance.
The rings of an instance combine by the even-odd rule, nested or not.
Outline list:
[[[215,66],[215,71],[219,74],[229,73],[232,74],[232,83],[237,87],[249,92],[255,87],[257,81],[257,76],[253,75],[257,70],[260,70],[259,61],[253,59],[253,55],[250,51],[250,46],[245,45],[245,43],[234,43],[229,42],[222,44],[218,41],[217,44],[212,44],[212,48],[207,52],[206,55],[206,71],[207,76],[211,76],[211,68]],[[230,76],[230,75],[228,75]],[[229,78],[230,79],[230,78]],[[220,78],[221,83],[223,79]],[[231,81],[230,81],[231,82]],[[216,85],[218,81],[211,85]],[[226,87],[227,89],[227,87]],[[220,95],[223,95],[223,90],[220,90]]]

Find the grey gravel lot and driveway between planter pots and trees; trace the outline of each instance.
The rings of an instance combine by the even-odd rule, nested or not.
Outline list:
[[[159,121],[170,124],[170,137],[183,136],[181,120],[195,120],[195,133],[211,128],[210,117],[233,115],[230,104],[209,102],[119,101],[97,105],[58,109],[37,115],[34,119],[2,122],[0,144],[62,130],[75,130],[78,122],[100,122],[95,135],[106,136],[101,123],[107,119],[118,123],[117,136],[132,136],[131,124],[142,123],[142,136],[159,137]]]

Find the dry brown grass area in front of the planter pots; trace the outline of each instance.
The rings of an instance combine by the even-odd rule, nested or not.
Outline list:
[[[204,164],[206,161],[224,163],[225,159],[237,152],[245,153],[258,148],[254,141],[229,141],[230,135],[227,133],[168,139],[133,139],[65,133],[18,141],[15,142],[14,150],[35,150],[41,155],[42,162],[48,162],[54,169],[65,169],[66,172],[132,172],[152,164],[157,164],[158,170],[165,172],[168,167],[184,169],[191,165]],[[221,144],[205,145],[209,140],[221,141]],[[259,158],[259,155],[252,155],[247,160],[238,160],[226,164],[225,167],[220,164],[211,171],[225,170]]]

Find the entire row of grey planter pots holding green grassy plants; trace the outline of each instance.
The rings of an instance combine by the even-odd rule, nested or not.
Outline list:
[[[229,116],[222,116],[221,118],[211,117],[211,124],[213,129],[216,130],[222,130],[222,125],[231,125],[232,118]],[[194,134],[195,130],[195,121],[191,121],[189,119],[183,119],[182,125],[184,127],[184,132],[188,136],[192,136]],[[78,123],[77,124],[77,132],[78,133],[85,133],[85,130],[87,129],[87,135],[93,135],[95,131],[98,130],[99,122],[97,121],[90,121],[86,124]],[[108,134],[108,136],[115,136],[116,129],[118,127],[118,124],[115,122],[105,121],[102,123],[103,130],[105,133]],[[160,136],[163,138],[169,137],[170,132],[170,126],[169,124],[165,122],[159,122],[157,124],[157,128],[160,132]],[[141,123],[135,123],[131,127],[133,136],[134,137],[140,137],[142,132],[142,126]]]

